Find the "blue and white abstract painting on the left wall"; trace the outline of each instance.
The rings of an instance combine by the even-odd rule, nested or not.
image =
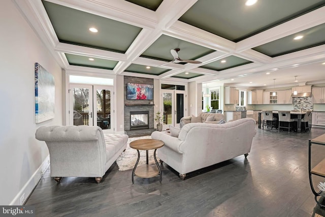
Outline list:
[[[35,63],[35,122],[54,118],[54,77],[39,63]]]

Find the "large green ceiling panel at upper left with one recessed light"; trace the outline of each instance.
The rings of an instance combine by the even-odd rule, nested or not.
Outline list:
[[[142,28],[43,1],[60,42],[125,53]],[[93,33],[90,27],[99,31]]]

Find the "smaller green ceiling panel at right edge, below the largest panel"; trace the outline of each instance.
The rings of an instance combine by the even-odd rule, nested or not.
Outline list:
[[[294,40],[297,35],[303,35],[304,38]],[[325,44],[325,24],[306,29],[299,33],[288,35],[287,37],[255,47],[253,50],[261,52],[270,57],[276,57],[323,44]]]

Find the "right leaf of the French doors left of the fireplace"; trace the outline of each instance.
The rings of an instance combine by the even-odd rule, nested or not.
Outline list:
[[[94,85],[93,90],[94,122],[104,133],[114,133],[113,87]]]

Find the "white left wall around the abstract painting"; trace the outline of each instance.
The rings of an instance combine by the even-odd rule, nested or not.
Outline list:
[[[48,149],[35,139],[36,129],[62,125],[62,72],[12,1],[1,3],[0,28],[0,205],[20,205],[48,164]],[[35,62],[55,78],[55,118],[40,124],[35,123]]]

